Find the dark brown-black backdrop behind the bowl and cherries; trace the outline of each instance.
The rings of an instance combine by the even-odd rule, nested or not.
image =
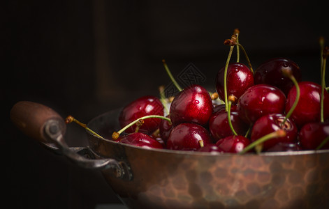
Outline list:
[[[119,203],[98,171],[21,134],[9,118],[15,102],[41,102],[87,123],[142,95],[159,95],[158,87],[170,84],[162,59],[174,76],[193,63],[214,91],[228,54],[223,42],[235,28],[254,69],[282,56],[300,65],[304,80],[319,82],[318,39],[329,38],[327,10],[315,1],[5,1],[0,10],[1,171],[10,208]],[[74,124],[66,139],[87,145]]]

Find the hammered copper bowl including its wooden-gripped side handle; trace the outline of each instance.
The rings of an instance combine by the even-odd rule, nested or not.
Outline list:
[[[119,130],[119,111],[88,127],[107,138]],[[29,137],[100,169],[129,208],[329,208],[329,150],[212,154],[139,148],[89,132],[89,147],[68,148],[64,120],[52,109],[18,102],[10,116]]]

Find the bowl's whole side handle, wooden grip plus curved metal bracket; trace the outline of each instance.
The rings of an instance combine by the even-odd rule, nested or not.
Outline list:
[[[70,160],[87,169],[110,169],[117,178],[131,179],[124,162],[115,159],[89,159],[69,148],[64,141],[64,119],[43,104],[29,101],[17,102],[10,111],[11,121],[28,137],[36,139],[52,150],[59,150]],[[85,148],[87,149],[87,148]],[[93,154],[89,152],[89,155]]]

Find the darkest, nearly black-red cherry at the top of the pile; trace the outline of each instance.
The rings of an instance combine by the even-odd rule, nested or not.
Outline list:
[[[282,69],[291,70],[297,82],[301,81],[300,67],[294,61],[285,58],[274,58],[265,61],[256,68],[254,73],[255,84],[277,86],[285,95],[288,95],[289,90],[293,87],[293,82],[282,74]]]

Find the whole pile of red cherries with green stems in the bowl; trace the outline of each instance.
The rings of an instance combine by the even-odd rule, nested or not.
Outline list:
[[[240,45],[234,38],[224,43],[231,49]],[[323,52],[324,77],[328,48]],[[126,105],[119,115],[123,130],[115,132],[113,140],[219,153],[329,148],[325,85],[302,82],[299,66],[290,59],[270,59],[255,71],[229,61],[217,74],[217,93],[200,85],[180,89],[167,114],[168,98],[144,96]],[[222,103],[214,102],[218,100]]]

